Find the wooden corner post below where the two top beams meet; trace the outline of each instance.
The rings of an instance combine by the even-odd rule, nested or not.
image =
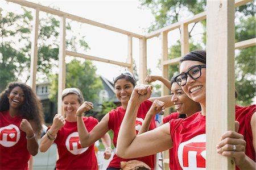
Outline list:
[[[147,40],[139,39],[139,83],[145,84],[147,76]]]

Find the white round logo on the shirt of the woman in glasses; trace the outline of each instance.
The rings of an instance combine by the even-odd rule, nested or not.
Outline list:
[[[206,134],[201,134],[180,143],[177,155],[181,168],[188,169],[205,169]]]

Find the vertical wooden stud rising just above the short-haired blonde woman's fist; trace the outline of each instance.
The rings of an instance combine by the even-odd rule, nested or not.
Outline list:
[[[59,77],[58,77],[58,114],[64,115],[61,103],[61,94],[65,88],[66,81],[66,19],[65,16],[60,17],[60,46],[59,46]]]

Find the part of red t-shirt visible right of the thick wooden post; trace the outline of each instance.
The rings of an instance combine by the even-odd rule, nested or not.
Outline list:
[[[240,126],[238,133],[243,135],[246,141],[245,154],[255,161],[255,151],[253,147],[253,132],[251,131],[251,117],[255,113],[256,105],[240,107],[236,105],[236,121]],[[236,167],[236,169],[239,169]]]

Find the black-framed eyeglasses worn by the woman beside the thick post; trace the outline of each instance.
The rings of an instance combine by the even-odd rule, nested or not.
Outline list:
[[[195,65],[189,71],[186,73],[181,73],[177,75],[174,80],[177,82],[179,86],[184,86],[187,84],[187,78],[188,75],[193,78],[193,80],[196,80],[201,76],[201,68],[206,68],[206,65]]]

